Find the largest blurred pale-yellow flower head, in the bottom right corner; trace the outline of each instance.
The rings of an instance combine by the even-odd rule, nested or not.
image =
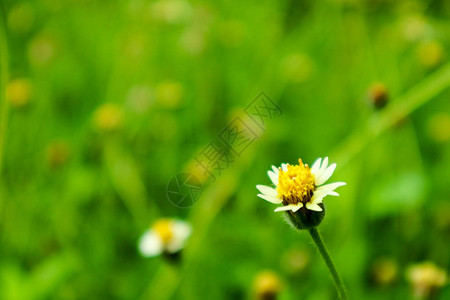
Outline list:
[[[406,278],[412,285],[414,296],[418,299],[429,297],[447,283],[447,273],[432,262],[409,267]]]

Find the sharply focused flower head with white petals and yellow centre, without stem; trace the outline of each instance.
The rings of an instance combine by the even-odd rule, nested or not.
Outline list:
[[[346,183],[325,184],[336,169],[336,164],[328,166],[328,157],[323,160],[317,159],[311,169],[303,164],[301,159],[298,161],[299,164],[295,166],[289,164],[281,164],[279,168],[272,166],[272,170],[269,170],[267,174],[275,188],[257,185],[256,188],[261,192],[258,197],[274,204],[283,204],[275,209],[277,212],[296,212],[302,207],[322,211],[319,204],[322,203],[323,198],[328,195],[339,196],[334,190]]]

